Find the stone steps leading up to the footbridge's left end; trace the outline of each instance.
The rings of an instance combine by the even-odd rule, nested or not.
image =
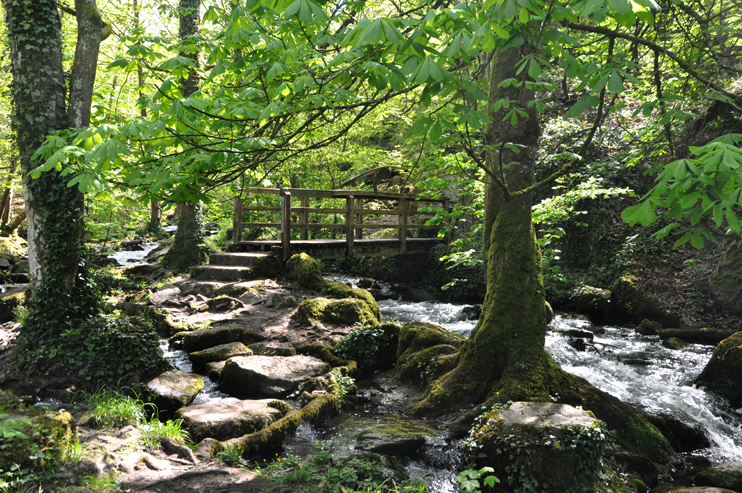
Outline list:
[[[239,282],[276,275],[280,260],[273,253],[212,253],[208,265],[191,268],[191,279]]]

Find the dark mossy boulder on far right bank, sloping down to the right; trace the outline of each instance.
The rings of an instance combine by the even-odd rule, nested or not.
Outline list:
[[[635,324],[645,318],[666,325],[676,322],[657,298],[637,287],[633,274],[624,274],[611,286],[611,315],[616,320]]]

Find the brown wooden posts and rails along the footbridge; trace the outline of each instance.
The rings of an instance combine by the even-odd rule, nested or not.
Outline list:
[[[245,196],[248,195],[278,195],[278,206],[246,205]],[[310,201],[323,199],[344,199],[343,207],[311,206]],[[296,205],[298,200],[298,206]],[[366,206],[372,201],[389,202],[391,210],[369,209]],[[305,188],[248,188],[234,199],[234,242],[242,241],[242,232],[247,228],[276,228],[280,232],[281,246],[284,260],[291,256],[291,231],[299,230],[299,239],[309,239],[309,231],[317,229],[335,229],[345,232],[346,255],[352,257],[355,240],[363,239],[363,231],[370,229],[398,229],[399,254],[407,249],[407,233],[410,229],[440,229],[440,226],[426,226],[425,224],[411,223],[414,216],[433,216],[431,212],[420,211],[418,203],[435,204],[448,211],[448,201],[445,199],[421,198],[412,194],[374,192],[366,190],[311,190]],[[245,221],[245,213],[262,213],[269,220]],[[272,220],[272,215],[280,213],[280,221]],[[334,215],[344,219],[342,223],[310,222],[310,214]],[[367,222],[364,216],[398,216],[396,224],[388,222]],[[292,220],[296,218],[296,220]]]

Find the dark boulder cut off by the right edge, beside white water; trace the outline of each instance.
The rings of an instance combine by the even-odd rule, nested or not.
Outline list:
[[[742,404],[742,332],[719,343],[696,385],[726,397],[732,406]]]

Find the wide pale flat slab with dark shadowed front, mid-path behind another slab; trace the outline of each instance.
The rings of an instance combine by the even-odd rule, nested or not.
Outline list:
[[[219,388],[245,397],[284,397],[328,371],[330,365],[311,356],[237,356],[224,365]]]

